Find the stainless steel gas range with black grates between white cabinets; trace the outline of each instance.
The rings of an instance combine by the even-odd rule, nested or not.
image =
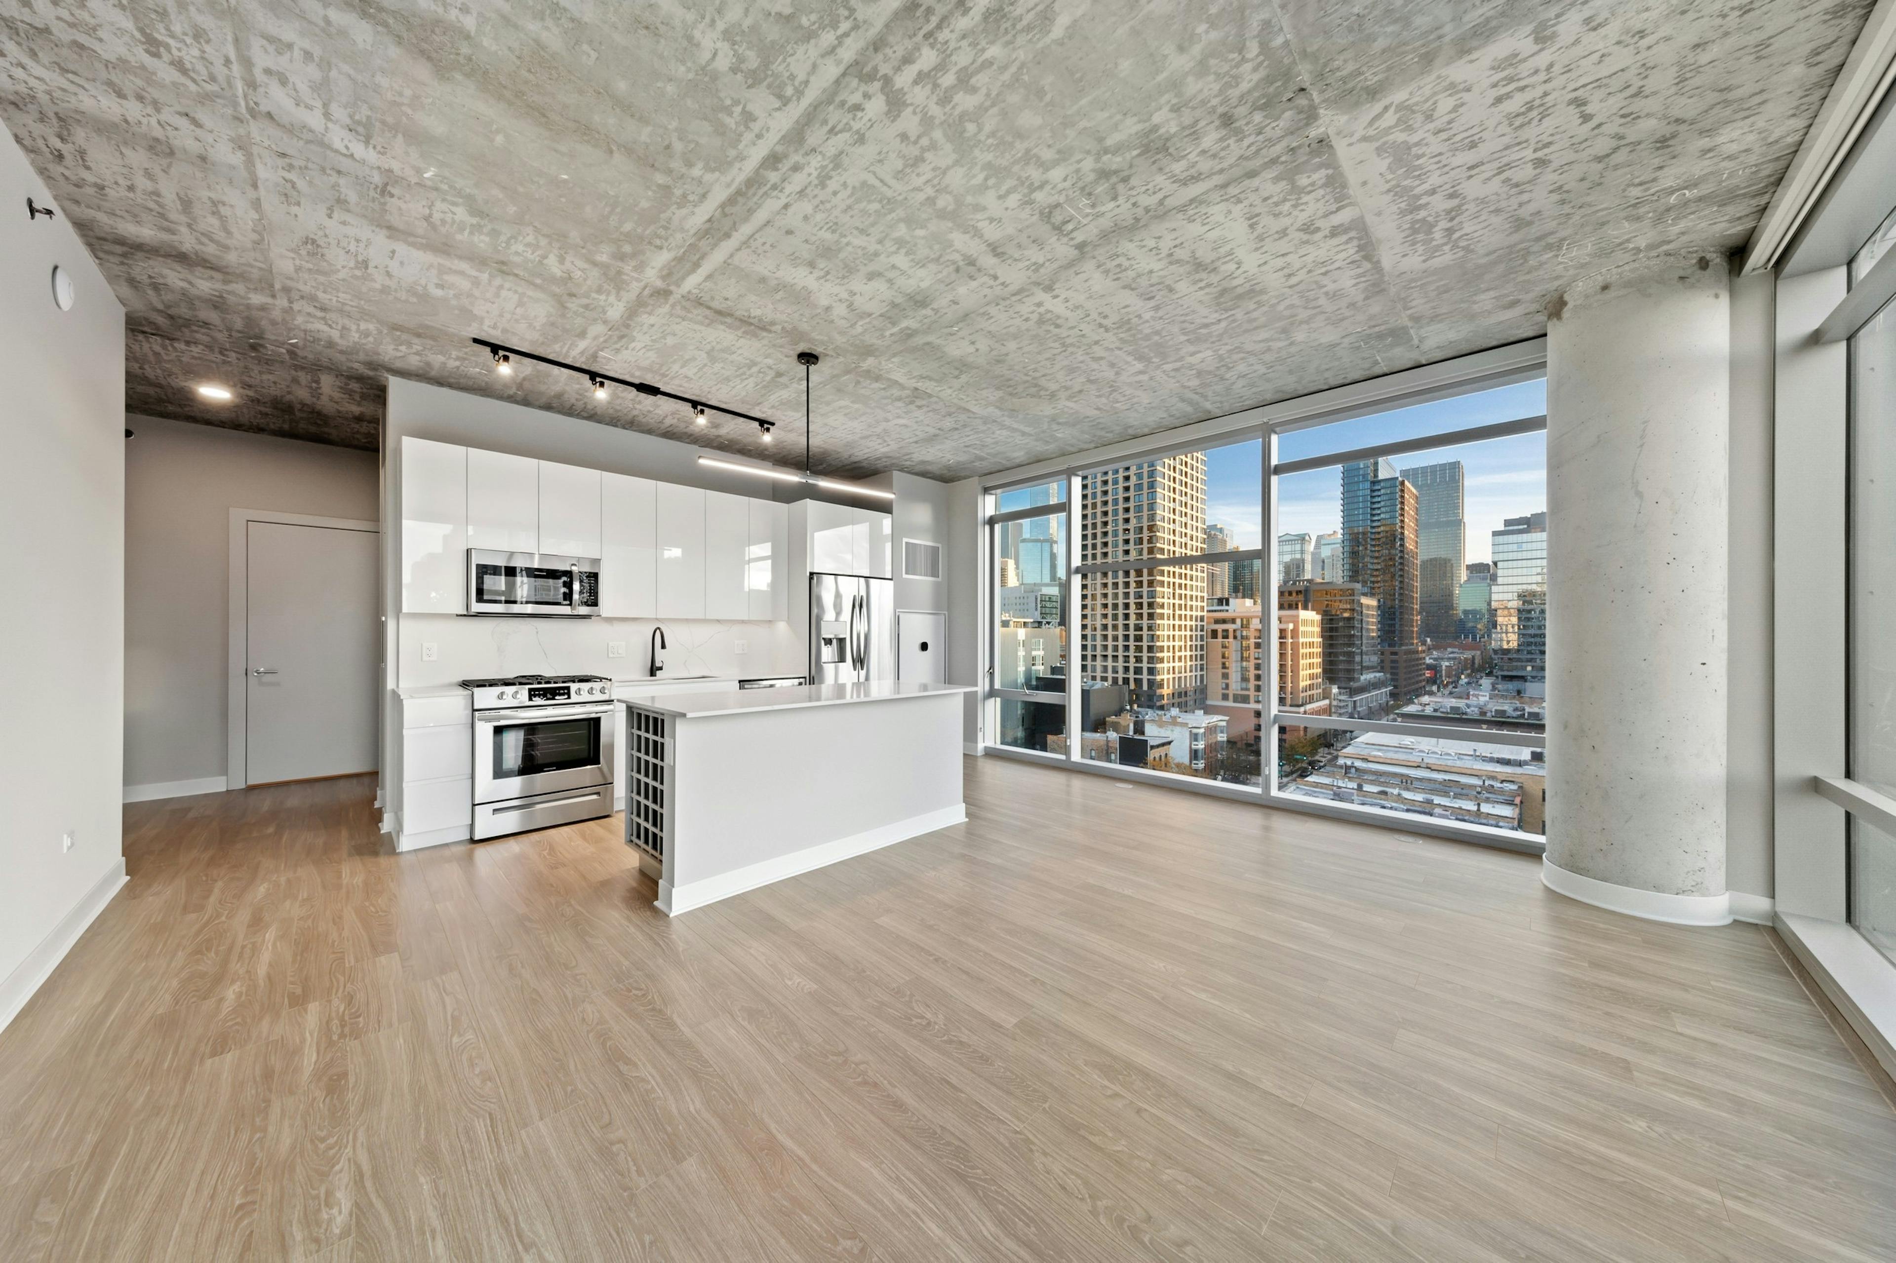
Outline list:
[[[474,840],[612,814],[612,681],[465,679],[474,694]]]

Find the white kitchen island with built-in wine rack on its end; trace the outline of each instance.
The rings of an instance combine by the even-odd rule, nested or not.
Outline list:
[[[626,844],[677,916],[967,819],[961,685],[622,696]]]

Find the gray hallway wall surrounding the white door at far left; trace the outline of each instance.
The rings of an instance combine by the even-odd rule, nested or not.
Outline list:
[[[375,455],[155,417],[125,425],[125,783],[224,776],[229,510],[375,522]]]

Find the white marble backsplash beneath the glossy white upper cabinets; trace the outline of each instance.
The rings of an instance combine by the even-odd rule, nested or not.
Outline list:
[[[787,622],[686,618],[463,618],[402,614],[396,683],[453,685],[497,675],[650,677],[652,628],[665,630],[665,675],[802,675],[802,643]],[[612,643],[626,656],[611,656]],[[434,645],[434,660],[423,647]],[[739,652],[739,645],[743,652]]]

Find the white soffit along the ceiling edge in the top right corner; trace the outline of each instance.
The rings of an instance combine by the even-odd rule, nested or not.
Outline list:
[[[1896,0],[1879,0],[1837,72],[1824,108],[1805,133],[1765,216],[1744,248],[1741,271],[1763,271],[1784,258],[1813,209],[1830,190],[1850,148],[1896,78]],[[1875,224],[1871,224],[1871,229]],[[1809,271],[1809,267],[1803,267]]]

